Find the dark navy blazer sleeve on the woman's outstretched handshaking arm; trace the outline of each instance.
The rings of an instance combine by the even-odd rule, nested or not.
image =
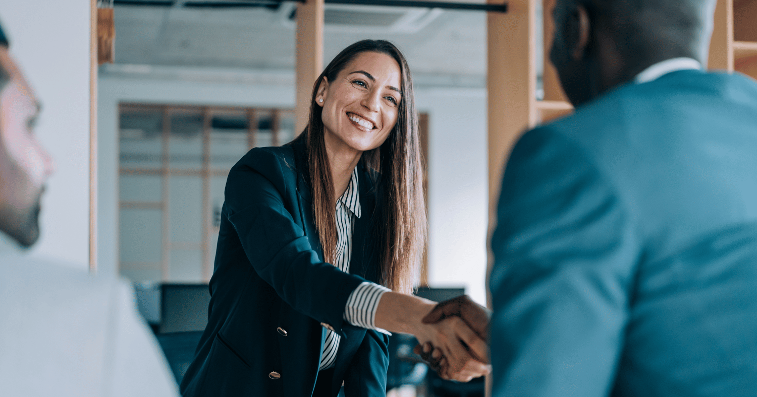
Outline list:
[[[238,164],[229,172],[224,216],[260,278],[289,306],[344,336],[347,298],[366,280],[319,259],[294,220],[296,178],[285,177],[293,172],[266,150],[254,150],[252,155],[254,163]]]

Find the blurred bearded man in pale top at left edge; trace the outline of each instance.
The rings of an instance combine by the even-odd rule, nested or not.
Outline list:
[[[38,114],[0,27],[0,395],[177,395],[130,287],[21,251],[53,172]]]

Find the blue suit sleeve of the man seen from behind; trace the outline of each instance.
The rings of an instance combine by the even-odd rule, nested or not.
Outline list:
[[[512,151],[492,236],[494,396],[609,395],[637,237],[615,188],[550,130]]]

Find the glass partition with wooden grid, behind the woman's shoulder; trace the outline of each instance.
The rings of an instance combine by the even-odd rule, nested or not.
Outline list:
[[[229,169],[294,139],[290,109],[121,104],[120,274],[201,282],[213,272]]]

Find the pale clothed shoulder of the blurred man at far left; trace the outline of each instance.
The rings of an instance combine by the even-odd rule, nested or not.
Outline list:
[[[119,278],[0,256],[0,318],[0,395],[176,395]]]

